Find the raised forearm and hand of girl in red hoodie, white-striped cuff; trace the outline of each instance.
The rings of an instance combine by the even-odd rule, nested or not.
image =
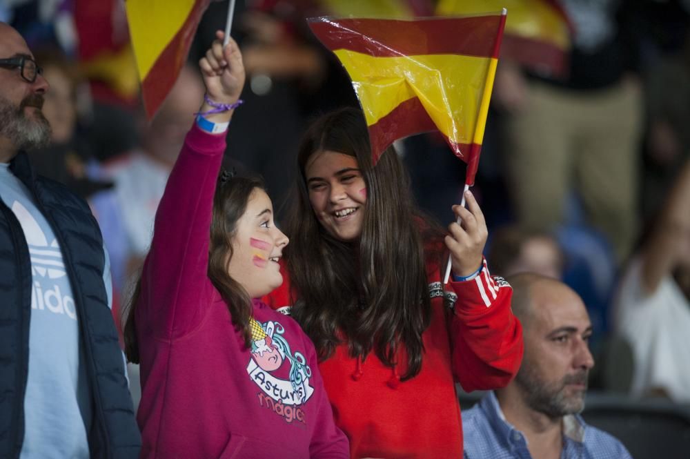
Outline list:
[[[457,294],[449,329],[455,378],[466,391],[504,387],[522,362],[522,326],[511,311],[512,289],[493,278],[482,257],[489,232],[479,204],[466,193],[469,208],[454,206],[462,225],[449,226]]]

